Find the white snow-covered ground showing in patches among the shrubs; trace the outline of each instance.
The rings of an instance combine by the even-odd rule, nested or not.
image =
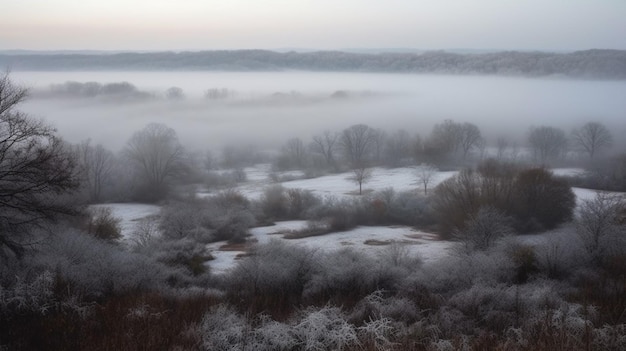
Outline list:
[[[572,175],[582,172],[580,169],[563,168],[553,170],[557,175]],[[245,169],[247,181],[237,187],[243,195],[258,199],[263,194],[265,187],[276,184],[271,180],[271,167],[267,164],[249,167]],[[456,172],[439,172],[429,184],[429,189],[450,178]],[[283,173],[278,176],[301,176],[299,173]],[[280,183],[286,188],[299,188],[310,190],[319,196],[349,197],[355,196],[357,185],[350,180],[350,173],[325,175],[311,179],[298,179]],[[374,168],[372,178],[363,186],[364,192],[372,192],[393,188],[396,191],[423,192],[421,185],[417,183],[415,170],[410,167],[404,168]],[[581,201],[593,198],[595,191],[589,189],[574,188],[577,200]],[[205,194],[206,195],[206,194]],[[112,208],[113,215],[121,219],[122,235],[124,240],[131,240],[134,228],[138,221],[147,216],[158,214],[159,207],[142,204],[106,204]],[[338,250],[350,247],[355,250],[367,252],[376,257],[377,254],[389,247],[390,243],[398,243],[406,247],[410,255],[416,255],[424,262],[432,262],[448,254],[455,245],[453,242],[437,240],[433,234],[417,231],[410,227],[357,227],[353,230],[332,233],[322,236],[307,237],[301,239],[284,239],[283,235],[290,231],[299,230],[306,226],[305,221],[278,222],[269,227],[252,228],[251,242],[266,243],[271,239],[287,240],[289,243],[302,245],[318,250]],[[536,238],[539,240],[539,238]],[[215,260],[208,264],[214,273],[222,273],[233,267],[237,256],[243,253],[244,248],[234,247],[225,249],[225,242],[217,242],[208,245]]]

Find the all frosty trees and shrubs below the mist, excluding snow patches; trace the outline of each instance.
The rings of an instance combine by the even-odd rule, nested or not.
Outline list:
[[[436,168],[423,165],[420,191],[321,198],[274,185],[252,199],[232,189],[245,181],[242,167],[258,161],[250,150],[224,151],[219,163],[230,171],[206,154],[199,167],[173,130],[153,124],[115,155],[68,145],[19,113],[25,91],[6,76],[0,97],[0,348],[626,348],[624,198],[601,193],[576,208],[569,181],[545,168],[472,158],[482,138],[469,123],[445,121],[419,143],[356,125],[314,137],[310,149],[291,139],[273,159],[276,169],[310,177],[353,172],[355,187],[375,164],[465,165],[432,191],[428,170]],[[536,162],[563,162],[563,145],[544,146],[532,146]],[[625,184],[613,175],[611,184]],[[196,196],[197,184],[211,195]],[[138,223],[132,242],[121,242],[110,211],[86,207],[120,199],[162,206]],[[372,257],[247,242],[251,227],[286,219],[308,221],[299,236],[410,225],[456,249],[424,263],[399,243]],[[545,240],[533,243],[529,233]],[[215,275],[206,244],[216,241],[250,249]]]

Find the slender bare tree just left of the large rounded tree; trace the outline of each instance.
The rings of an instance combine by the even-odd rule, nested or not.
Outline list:
[[[86,140],[78,145],[79,169],[90,201],[99,202],[105,184],[111,180],[114,155],[102,145],[90,143],[91,140]]]

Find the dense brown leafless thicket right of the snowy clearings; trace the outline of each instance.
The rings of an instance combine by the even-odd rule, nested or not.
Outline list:
[[[433,195],[433,210],[444,238],[466,230],[484,207],[510,217],[518,233],[529,233],[570,220],[575,205],[567,181],[549,170],[519,169],[494,160],[462,170],[439,184]]]

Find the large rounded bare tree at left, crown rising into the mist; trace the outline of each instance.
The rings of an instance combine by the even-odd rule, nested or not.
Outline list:
[[[183,168],[183,148],[176,132],[163,124],[151,123],[128,140],[125,154],[145,180],[140,193],[144,200],[156,201],[169,190],[172,177]]]

